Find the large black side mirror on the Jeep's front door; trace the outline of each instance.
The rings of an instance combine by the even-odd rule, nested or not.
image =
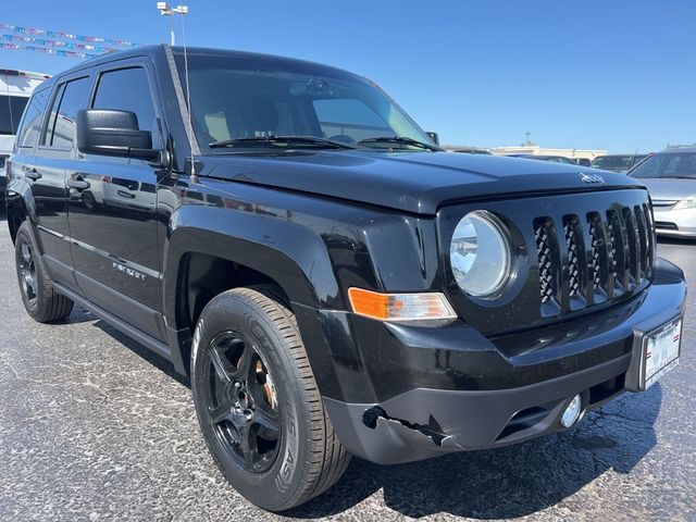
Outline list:
[[[77,111],[77,150],[86,154],[153,160],[152,134],[140,130],[130,111],[87,109]]]

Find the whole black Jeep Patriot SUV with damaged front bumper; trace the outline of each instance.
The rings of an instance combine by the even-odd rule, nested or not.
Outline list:
[[[141,48],[45,83],[9,164],[27,312],[74,302],[190,376],[252,502],[570,427],[679,361],[645,187],[442,151],[372,82]]]

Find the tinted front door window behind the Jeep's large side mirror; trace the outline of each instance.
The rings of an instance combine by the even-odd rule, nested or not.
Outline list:
[[[142,67],[103,73],[91,107],[135,112],[140,130],[152,132],[154,127],[152,97],[148,75]]]

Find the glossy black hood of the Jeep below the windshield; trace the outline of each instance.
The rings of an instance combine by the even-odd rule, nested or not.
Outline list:
[[[644,188],[623,174],[580,165],[450,152],[295,151],[200,160],[201,175],[419,214],[483,197]]]

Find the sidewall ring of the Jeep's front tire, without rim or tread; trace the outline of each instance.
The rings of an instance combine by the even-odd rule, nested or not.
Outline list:
[[[281,447],[276,461],[263,473],[240,468],[219,443],[208,422],[203,391],[204,356],[212,339],[222,332],[241,333],[260,352],[277,393],[281,412]],[[303,409],[301,378],[289,349],[273,321],[260,307],[241,296],[225,293],[215,297],[201,313],[191,347],[191,389],[196,413],[206,443],[217,465],[234,488],[251,502],[274,510],[291,504],[298,490],[309,439],[309,414]]]

